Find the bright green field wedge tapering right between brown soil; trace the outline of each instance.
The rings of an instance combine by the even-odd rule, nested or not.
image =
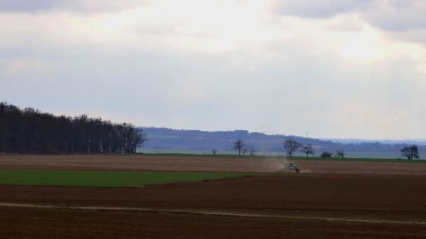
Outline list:
[[[246,175],[250,174],[0,169],[0,184],[75,187],[140,187],[146,184],[240,178]]]

